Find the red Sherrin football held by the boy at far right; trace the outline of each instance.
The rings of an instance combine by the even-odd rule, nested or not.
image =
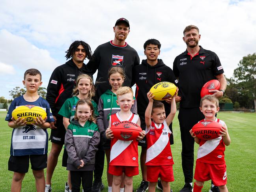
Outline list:
[[[192,127],[192,132],[199,139],[211,140],[219,137],[220,128],[222,125],[216,121],[205,120],[199,123],[196,123]]]

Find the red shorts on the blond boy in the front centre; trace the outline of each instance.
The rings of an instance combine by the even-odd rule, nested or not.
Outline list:
[[[116,166],[116,165],[109,165],[108,166],[108,173],[116,176],[120,176],[124,174],[128,177],[132,177],[139,174],[139,167],[135,166]]]

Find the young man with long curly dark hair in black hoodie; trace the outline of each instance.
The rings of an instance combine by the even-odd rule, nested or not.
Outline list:
[[[63,125],[63,117],[58,115],[58,112],[66,99],[72,97],[77,76],[82,73],[91,75],[84,64],[85,58],[89,60],[92,58],[92,51],[87,43],[75,41],[70,45],[66,53],[65,57],[72,59],[54,69],[47,87],[46,100],[50,104],[55,122],[51,123],[50,140],[52,147],[47,159],[45,192],[52,191],[50,186],[52,175],[65,140],[66,130]]]

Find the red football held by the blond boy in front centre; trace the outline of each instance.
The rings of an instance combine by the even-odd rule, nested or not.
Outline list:
[[[131,121],[121,121],[110,127],[113,131],[114,137],[123,140],[130,141],[136,139],[142,129],[136,123]]]

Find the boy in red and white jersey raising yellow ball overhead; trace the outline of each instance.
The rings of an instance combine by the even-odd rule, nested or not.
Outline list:
[[[175,97],[172,97],[171,112],[166,117],[164,104],[160,101],[154,101],[152,93],[149,91],[147,97],[149,100],[145,112],[146,138],[147,138],[147,180],[149,181],[149,192],[155,192],[157,180],[161,178],[163,192],[170,192],[170,182],[174,181],[172,165],[172,151],[170,147],[170,123],[176,114]],[[166,118],[165,118],[166,117]],[[152,119],[152,120],[151,120]]]

